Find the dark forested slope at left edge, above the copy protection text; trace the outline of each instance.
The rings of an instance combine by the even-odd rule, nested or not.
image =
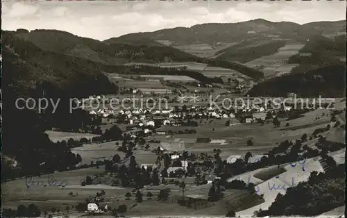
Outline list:
[[[16,81],[28,89],[50,84],[47,94],[65,92],[70,97],[117,92],[101,72],[107,66],[99,62],[46,51],[8,32],[2,35],[2,46],[5,83]]]

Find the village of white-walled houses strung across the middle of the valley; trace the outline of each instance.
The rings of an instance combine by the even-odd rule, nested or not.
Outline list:
[[[102,98],[104,96],[90,97],[90,99]],[[252,106],[242,104],[237,107],[237,110],[241,112],[243,121],[246,123],[251,123],[258,119],[265,120],[266,112],[274,110],[271,106],[265,109],[261,103]],[[283,106],[282,110],[289,111],[291,110],[291,106]],[[238,115],[239,112],[237,113]],[[138,126],[184,126],[184,121],[188,119],[235,119],[235,110],[221,110],[219,108],[212,108],[211,106],[187,106],[182,109],[171,107],[163,110],[132,108],[130,110],[121,109],[117,111],[108,108],[99,108],[98,110],[90,110],[90,114],[102,117],[110,117],[110,115],[115,117],[121,116],[123,117],[124,123],[138,124]]]

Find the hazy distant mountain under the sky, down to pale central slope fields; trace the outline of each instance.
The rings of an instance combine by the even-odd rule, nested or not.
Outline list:
[[[336,36],[345,31],[346,21],[344,20],[301,25],[293,22],[269,22],[265,19],[254,19],[239,23],[198,24],[189,28],[176,27],[154,32],[130,33],[104,42],[129,43],[150,40],[210,58],[221,53],[223,49],[235,47],[235,44],[245,44],[248,41],[289,40],[303,43],[314,36]],[[199,48],[197,48],[198,45],[200,45]],[[201,49],[202,47],[205,48],[205,53],[204,49]]]

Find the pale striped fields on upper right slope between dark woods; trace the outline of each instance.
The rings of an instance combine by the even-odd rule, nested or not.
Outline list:
[[[246,62],[247,67],[264,66],[261,69],[264,76],[271,77],[278,74],[287,74],[292,68],[296,67],[294,64],[285,64],[290,56],[296,55],[305,44],[286,44],[285,47],[278,49],[277,53],[262,58],[257,58],[250,62]]]

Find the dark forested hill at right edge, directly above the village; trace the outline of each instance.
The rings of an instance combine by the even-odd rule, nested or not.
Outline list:
[[[346,67],[330,65],[304,74],[289,74],[258,83],[251,97],[285,97],[294,92],[298,97],[345,97]]]

